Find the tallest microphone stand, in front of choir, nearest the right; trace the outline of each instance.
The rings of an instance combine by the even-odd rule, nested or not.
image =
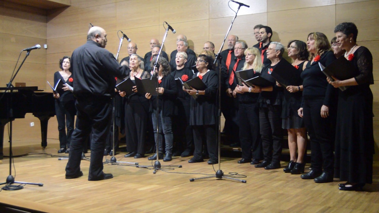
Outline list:
[[[229,177],[227,175],[224,175],[224,172],[222,172],[222,170],[221,170],[221,161],[220,161],[220,157],[221,157],[220,156],[221,155],[221,145],[220,145],[220,142],[221,142],[221,60],[222,60],[220,53],[221,53],[222,48],[224,47],[225,40],[228,37],[230,30],[232,29],[233,22],[234,22],[235,18],[237,17],[237,13],[240,10],[241,6],[242,5],[238,6],[237,11],[235,12],[236,14],[233,17],[232,23],[230,23],[229,29],[226,32],[224,41],[221,44],[220,50],[218,51],[218,53],[216,55],[216,59],[213,62],[213,64],[216,64],[218,61],[218,65],[219,65],[219,73],[218,73],[218,132],[217,132],[217,134],[218,134],[218,170],[217,170],[215,175],[211,175],[208,177],[191,178],[191,179],[189,179],[190,182],[193,182],[195,180],[200,180],[200,179],[207,179],[207,178],[211,178],[211,177],[216,177],[218,180],[223,180],[225,178],[225,179],[237,180],[241,183],[246,183],[246,180],[235,179],[235,178]]]

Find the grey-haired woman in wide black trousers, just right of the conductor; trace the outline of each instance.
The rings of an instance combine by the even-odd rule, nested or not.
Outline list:
[[[129,58],[130,80],[135,83],[135,78],[150,78],[150,73],[144,71],[141,58],[137,54],[132,54]],[[125,91],[120,92],[122,97]],[[125,139],[128,154],[124,157],[143,158],[145,157],[145,139],[147,122],[149,121],[149,100],[145,96],[134,93],[127,98],[125,103]]]

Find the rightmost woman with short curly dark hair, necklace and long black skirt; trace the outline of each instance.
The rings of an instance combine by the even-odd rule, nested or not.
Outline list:
[[[346,183],[340,190],[362,190],[373,182],[373,57],[366,47],[357,44],[354,23],[340,23],[334,28],[338,46],[346,50],[345,58],[355,68],[355,76],[347,80],[329,81],[338,90],[337,129],[335,137],[334,177]]]

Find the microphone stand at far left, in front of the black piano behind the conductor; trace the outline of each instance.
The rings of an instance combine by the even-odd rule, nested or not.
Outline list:
[[[19,73],[19,71],[20,71],[20,69],[22,67],[22,64],[25,62],[26,58],[29,56],[30,51],[31,50],[27,50],[25,58],[23,59],[22,63],[20,64],[19,69],[17,69],[16,74],[14,74],[14,76],[11,78],[11,81],[9,81],[9,83],[7,84],[7,88],[4,91],[4,94],[8,90],[10,91],[10,97],[8,99],[8,106],[9,106],[9,109],[8,109],[8,118],[10,119],[10,121],[9,121],[10,122],[10,124],[9,124],[9,175],[6,178],[6,182],[0,183],[0,185],[3,185],[3,184],[11,185],[13,183],[20,183],[20,184],[25,184],[25,185],[26,184],[28,184],[28,185],[37,185],[37,186],[43,186],[44,185],[43,183],[28,183],[28,182],[15,181],[14,177],[12,176],[12,160],[13,160],[13,153],[12,153],[12,133],[13,133],[13,125],[12,125],[12,120],[13,120],[12,101],[13,101],[13,98],[12,98],[12,93],[13,93],[13,89],[14,89],[13,86],[12,86],[12,82],[13,82],[14,78],[16,78],[17,73]],[[16,187],[13,187],[12,190],[20,190],[22,188],[23,188],[23,186],[19,186],[19,187],[16,186]],[[3,187],[3,189],[7,190],[6,186]]]

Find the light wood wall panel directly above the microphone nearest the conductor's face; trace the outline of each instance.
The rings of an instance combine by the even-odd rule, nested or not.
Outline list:
[[[159,25],[159,1],[117,2],[117,30]]]

